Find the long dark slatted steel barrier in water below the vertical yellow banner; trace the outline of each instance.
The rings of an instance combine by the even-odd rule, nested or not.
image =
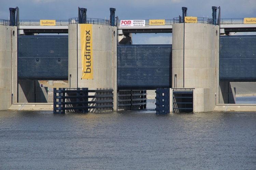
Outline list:
[[[113,111],[113,89],[54,88],[53,95],[53,113]]]

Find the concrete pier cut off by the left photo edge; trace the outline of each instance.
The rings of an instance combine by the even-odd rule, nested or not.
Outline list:
[[[12,94],[17,92],[17,27],[0,26],[0,110],[12,105]],[[13,100],[17,100],[16,96]]]

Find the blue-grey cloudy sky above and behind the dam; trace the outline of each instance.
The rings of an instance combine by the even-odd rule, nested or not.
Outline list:
[[[256,17],[255,0],[0,0],[0,19],[9,19],[9,8],[17,6],[24,20],[68,20],[78,17],[78,7],[87,9],[87,18],[100,19],[109,19],[111,7],[120,20],[173,19],[182,16],[183,6],[194,17],[212,18],[212,6],[221,7],[221,18]],[[136,34],[133,44],[171,44],[171,36]]]

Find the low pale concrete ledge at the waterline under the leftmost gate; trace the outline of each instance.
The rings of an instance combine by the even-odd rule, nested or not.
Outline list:
[[[15,103],[9,110],[53,110],[53,103]]]

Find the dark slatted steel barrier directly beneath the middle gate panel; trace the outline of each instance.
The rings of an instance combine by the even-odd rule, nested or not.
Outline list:
[[[146,90],[118,90],[118,109],[146,109]]]

